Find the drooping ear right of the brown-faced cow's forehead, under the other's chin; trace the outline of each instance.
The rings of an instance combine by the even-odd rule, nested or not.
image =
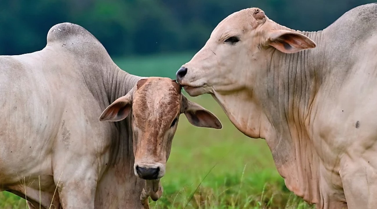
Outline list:
[[[181,112],[185,114],[187,120],[194,126],[213,129],[222,128],[221,122],[214,114],[195,102],[187,100],[184,95],[182,95]]]

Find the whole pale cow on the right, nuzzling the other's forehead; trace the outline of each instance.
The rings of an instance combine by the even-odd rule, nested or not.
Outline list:
[[[285,183],[319,209],[377,205],[377,4],[300,32],[259,8],[229,15],[177,71],[264,138]]]

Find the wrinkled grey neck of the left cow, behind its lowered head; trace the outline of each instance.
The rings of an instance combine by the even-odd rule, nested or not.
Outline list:
[[[100,72],[85,77],[90,91],[103,110],[117,98],[126,95],[141,79],[126,73],[114,63],[104,66],[103,69],[99,69]],[[101,169],[95,206],[96,208],[143,208],[140,195],[146,182],[133,173],[131,117],[115,123],[102,123],[110,124],[112,142],[109,150],[106,150],[109,159]]]

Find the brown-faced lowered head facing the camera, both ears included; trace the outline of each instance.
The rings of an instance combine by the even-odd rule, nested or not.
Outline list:
[[[169,78],[139,80],[130,92],[105,109],[100,120],[120,121],[131,110],[134,173],[146,180],[164,176],[180,114],[185,114],[194,126],[222,128],[215,115],[187,100],[181,86]]]

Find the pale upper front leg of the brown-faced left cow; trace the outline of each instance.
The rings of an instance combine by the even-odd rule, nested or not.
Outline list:
[[[68,163],[69,164],[69,163]],[[67,166],[60,174],[54,172],[63,209],[94,209],[97,174],[94,166],[78,161],[78,167]],[[77,165],[72,163],[72,165]],[[59,182],[59,183],[58,183]]]

